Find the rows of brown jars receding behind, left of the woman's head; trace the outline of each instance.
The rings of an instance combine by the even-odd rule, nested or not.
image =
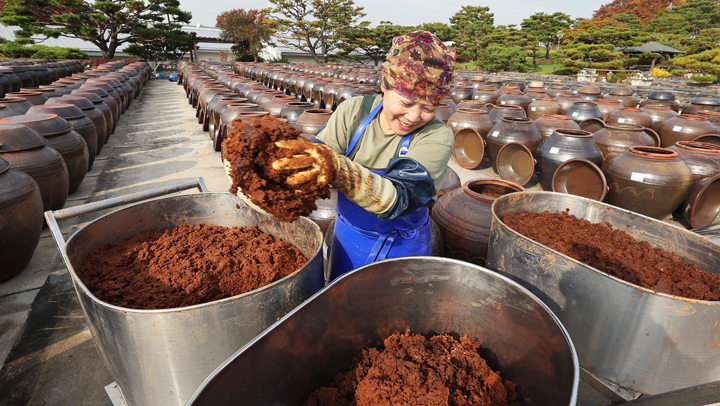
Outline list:
[[[377,70],[353,64],[178,64],[178,84],[216,151],[235,119],[273,115],[314,136],[340,103],[377,94],[379,78]]]

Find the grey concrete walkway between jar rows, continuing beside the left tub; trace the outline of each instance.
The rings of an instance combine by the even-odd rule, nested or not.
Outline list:
[[[469,171],[452,160],[450,166],[463,182],[497,178],[487,167]],[[199,176],[213,192],[230,186],[220,153],[212,150],[207,133],[197,124],[182,87],[154,79],[122,116],[93,171],[66,207]],[[62,221],[64,238],[102,214]],[[67,269],[47,230],[27,269],[0,284],[0,365],[0,406],[113,405],[104,388],[114,379],[94,347]],[[584,384],[580,398],[578,404],[583,406],[609,404]]]

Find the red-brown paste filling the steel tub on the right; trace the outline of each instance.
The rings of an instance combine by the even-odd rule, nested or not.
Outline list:
[[[661,293],[720,300],[720,280],[677,254],[636,241],[609,223],[593,224],[567,212],[508,213],[503,222],[540,244],[609,275]]]

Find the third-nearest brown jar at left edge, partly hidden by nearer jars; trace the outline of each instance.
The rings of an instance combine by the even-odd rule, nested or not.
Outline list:
[[[55,114],[25,114],[1,119],[0,123],[22,124],[45,138],[45,145],[56,150],[65,162],[69,177],[68,195],[77,192],[87,174],[90,157],[85,140],[73,131],[64,118]]]

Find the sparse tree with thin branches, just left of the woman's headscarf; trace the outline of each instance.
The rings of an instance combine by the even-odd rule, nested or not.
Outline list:
[[[353,0],[269,0],[273,7],[260,12],[278,30],[278,41],[309,52],[317,63],[327,62],[328,54],[342,46],[347,32],[367,27],[364,7]]]

